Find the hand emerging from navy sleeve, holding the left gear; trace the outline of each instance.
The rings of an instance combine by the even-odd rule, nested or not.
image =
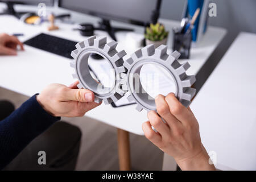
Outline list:
[[[69,87],[61,84],[50,84],[36,100],[49,114],[60,117],[82,117],[87,111],[97,107],[94,93],[87,89],[78,89],[76,81]]]

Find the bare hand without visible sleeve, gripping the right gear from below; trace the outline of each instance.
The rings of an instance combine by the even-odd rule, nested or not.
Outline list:
[[[209,155],[201,143],[199,124],[192,111],[173,93],[157,96],[155,104],[159,115],[149,111],[149,121],[142,125],[146,138],[171,155],[182,170],[215,170],[214,165],[209,164]]]

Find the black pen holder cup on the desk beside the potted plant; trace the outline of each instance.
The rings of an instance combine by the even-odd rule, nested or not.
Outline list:
[[[174,32],[172,50],[180,53],[180,59],[189,59],[192,35],[183,34],[181,28],[173,28]]]

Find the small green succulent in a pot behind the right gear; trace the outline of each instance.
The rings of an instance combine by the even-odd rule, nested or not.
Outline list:
[[[150,24],[150,27],[146,27],[146,45],[154,44],[154,47],[159,47],[160,45],[167,43],[169,32],[164,29],[163,24],[156,23]]]

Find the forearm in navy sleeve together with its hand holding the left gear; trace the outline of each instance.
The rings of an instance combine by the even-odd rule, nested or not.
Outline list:
[[[93,92],[77,89],[77,84],[51,84],[0,122],[0,169],[61,116],[82,116],[100,105],[93,102]]]

